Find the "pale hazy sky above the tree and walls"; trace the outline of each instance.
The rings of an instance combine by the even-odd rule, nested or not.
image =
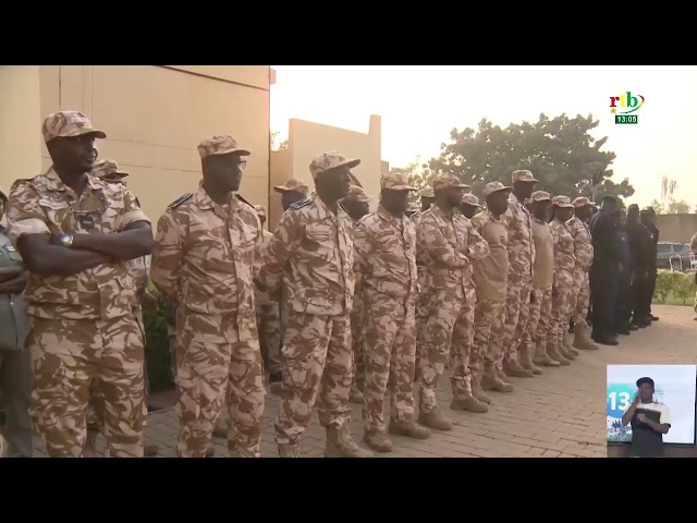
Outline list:
[[[661,196],[661,179],[677,182],[675,199],[697,204],[697,66],[673,65],[273,65],[271,131],[288,136],[291,118],[367,133],[382,117],[382,159],[401,167],[438,156],[453,127],[487,117],[502,127],[540,113],[600,120],[594,136],[617,158],[613,181],[628,178],[627,202]],[[610,97],[631,92],[645,104],[636,125],[617,125]],[[573,195],[571,195],[573,196]]]

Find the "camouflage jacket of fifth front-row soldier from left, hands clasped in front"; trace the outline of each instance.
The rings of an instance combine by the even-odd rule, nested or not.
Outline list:
[[[445,214],[432,206],[417,228],[419,253],[426,260],[428,289],[466,291],[472,285],[472,262],[489,255],[489,244],[461,212]]]

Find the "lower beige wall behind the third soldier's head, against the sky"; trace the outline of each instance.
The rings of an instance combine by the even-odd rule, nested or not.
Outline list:
[[[292,119],[289,122],[289,147],[271,154],[271,185],[296,178],[314,188],[309,163],[317,155],[327,150],[338,150],[346,157],[360,158],[360,165],[352,172],[360,181],[365,191],[372,196],[375,209],[380,193],[380,175],[389,170],[389,163],[381,159],[382,123],[377,114],[370,115],[368,133],[358,133],[306,120]],[[269,226],[276,227],[281,215],[280,197],[271,197]]]

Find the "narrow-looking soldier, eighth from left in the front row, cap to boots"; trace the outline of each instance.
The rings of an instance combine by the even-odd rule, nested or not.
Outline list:
[[[566,360],[550,348],[547,353],[547,335],[551,325],[552,283],[554,281],[554,236],[549,226],[552,198],[545,191],[536,191],[530,196],[533,209],[533,239],[535,241],[535,277],[527,328],[521,342],[521,365],[535,374],[541,374],[537,367],[559,367]]]

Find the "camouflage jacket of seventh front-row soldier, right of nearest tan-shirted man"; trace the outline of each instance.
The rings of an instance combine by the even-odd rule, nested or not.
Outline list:
[[[505,212],[509,221],[509,275],[511,276],[534,276],[535,275],[535,241],[533,240],[533,222],[530,214],[511,194],[509,199],[509,210]]]

